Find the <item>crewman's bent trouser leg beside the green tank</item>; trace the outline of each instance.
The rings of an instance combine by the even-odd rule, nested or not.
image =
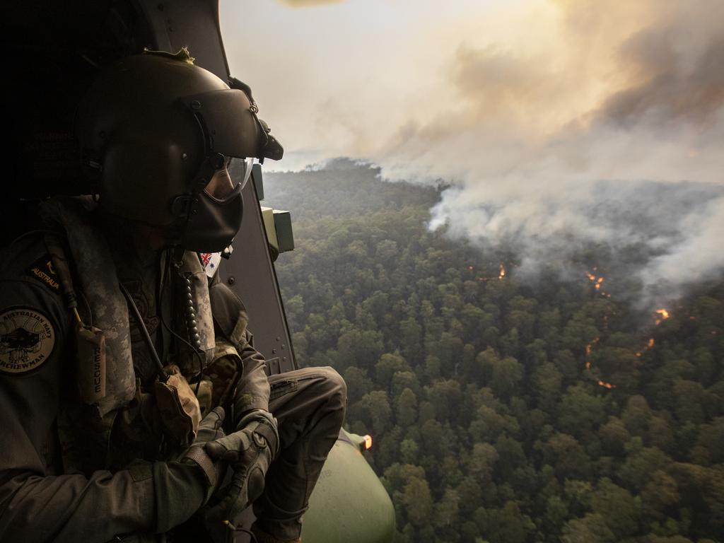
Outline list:
[[[324,460],[345,418],[347,387],[332,368],[305,368],[269,377],[269,411],[279,423],[279,455],[254,502],[258,526],[279,539],[299,536]]]

